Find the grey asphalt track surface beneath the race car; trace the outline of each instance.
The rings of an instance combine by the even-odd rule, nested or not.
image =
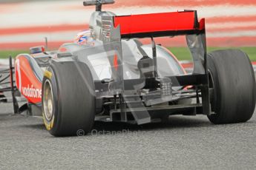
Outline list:
[[[171,116],[132,126],[96,122],[91,134],[53,137],[42,118],[0,103],[0,169],[255,169],[256,114],[213,125],[206,116]]]

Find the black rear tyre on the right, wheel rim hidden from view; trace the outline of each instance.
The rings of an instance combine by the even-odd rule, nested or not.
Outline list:
[[[208,55],[210,86],[214,88],[208,118],[212,123],[240,123],[255,110],[255,73],[246,53],[218,50]]]

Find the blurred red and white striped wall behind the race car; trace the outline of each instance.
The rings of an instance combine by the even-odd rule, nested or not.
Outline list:
[[[0,0],[0,50],[41,45],[45,37],[51,48],[73,41],[76,33],[88,28],[93,10],[83,7],[82,0]],[[103,10],[116,15],[197,10],[199,18],[206,18],[208,46],[256,47],[255,0],[116,0]],[[160,42],[185,45],[183,38],[162,38]]]

